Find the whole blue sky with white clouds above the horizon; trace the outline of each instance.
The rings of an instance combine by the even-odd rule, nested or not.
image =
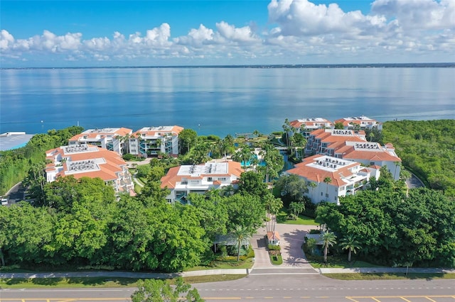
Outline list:
[[[455,62],[455,0],[0,1],[1,67]]]

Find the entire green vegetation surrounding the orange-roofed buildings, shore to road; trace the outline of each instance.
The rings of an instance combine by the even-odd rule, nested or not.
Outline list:
[[[254,254],[237,249],[238,244],[213,250],[210,242],[214,242],[215,235],[233,235],[237,230],[237,242],[242,242],[264,222],[269,223],[270,215],[305,223],[300,214],[309,216],[308,220],[316,218],[316,224],[326,225],[337,234],[339,238],[333,238],[336,240],[332,239],[327,248],[329,255],[346,257],[348,250],[356,250],[359,261],[375,259],[375,265],[455,267],[455,218],[450,216],[455,213],[455,120],[388,121],[382,133],[367,135],[381,145],[392,142],[405,168],[422,177],[429,188],[412,189],[408,194],[384,173],[374,187],[343,198],[341,206],[316,206],[289,191],[283,194],[280,186],[285,183],[280,181],[279,171],[284,162],[268,140],[289,139],[285,133],[281,133],[281,140],[277,140],[278,133],[258,134],[261,140],[256,143],[263,144],[266,154],[275,161],[243,173],[233,193],[209,191],[188,196],[193,206],[168,204],[167,191],[160,186],[161,177],[166,169],[178,164],[208,160],[208,150],[220,158],[234,153],[234,138],[198,136],[196,131],[186,130],[181,139],[187,150],[177,159],[151,160],[148,170],[141,171],[144,186],[136,197],[117,198],[101,179],[77,181],[64,177],[47,184],[44,151],[66,145],[80,132],[82,128],[76,126],[49,130],[33,136],[26,147],[0,153],[0,181],[7,187],[1,189],[23,180],[34,201],[0,207],[0,229],[5,230],[0,234],[1,267],[182,272],[198,265],[210,269],[224,259],[236,268],[250,262]],[[250,150],[245,141],[237,148]],[[269,178],[277,179],[277,186],[269,188],[264,183]],[[298,186],[298,192],[308,189],[306,184]],[[303,208],[297,207],[302,203]],[[342,245],[347,239],[343,235],[350,230],[358,232],[351,234],[355,240]],[[403,254],[403,250],[407,252]]]

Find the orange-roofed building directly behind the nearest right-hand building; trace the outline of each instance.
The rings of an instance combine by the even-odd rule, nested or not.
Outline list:
[[[345,142],[334,153],[337,158],[360,162],[365,166],[385,166],[395,180],[400,179],[401,159],[390,143],[381,146],[379,142]]]

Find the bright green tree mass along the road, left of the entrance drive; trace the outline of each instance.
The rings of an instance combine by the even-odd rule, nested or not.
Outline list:
[[[213,260],[216,235],[239,225],[252,234],[264,223],[264,202],[241,192],[209,191],[191,195],[193,205],[169,204],[163,174],[151,167],[141,194],[119,199],[102,179],[63,177],[43,186],[43,203],[0,207],[1,259],[23,267],[179,272]]]

